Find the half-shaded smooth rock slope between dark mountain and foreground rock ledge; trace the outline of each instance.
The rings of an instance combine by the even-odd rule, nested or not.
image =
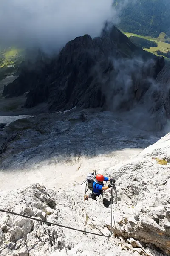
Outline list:
[[[126,120],[120,114],[89,109],[84,116],[85,120],[76,109],[46,113],[4,128],[0,133],[0,189],[16,189],[32,180],[61,187],[65,175],[73,183],[95,167],[107,169],[128,159],[161,136],[134,128],[127,115]]]

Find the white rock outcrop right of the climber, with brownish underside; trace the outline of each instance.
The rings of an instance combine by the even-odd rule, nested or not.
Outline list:
[[[115,233],[132,246],[142,243],[170,255],[170,134],[110,174],[117,179]],[[121,210],[120,210],[121,209]],[[140,240],[140,243],[136,240]],[[150,251],[150,252],[151,252]]]

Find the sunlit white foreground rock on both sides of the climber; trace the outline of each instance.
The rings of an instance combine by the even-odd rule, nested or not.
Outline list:
[[[139,256],[170,255],[170,134],[138,156],[98,171],[116,179],[113,193],[114,235],[103,237],[47,226],[0,213],[0,255]],[[100,166],[100,164],[99,164]],[[108,235],[111,196],[83,203],[84,177],[67,189],[34,184],[0,192],[0,209]]]

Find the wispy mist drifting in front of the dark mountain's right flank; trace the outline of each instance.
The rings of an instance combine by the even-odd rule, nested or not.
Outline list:
[[[103,88],[108,109],[121,113],[127,122],[147,131],[161,131],[167,124],[167,85],[153,78],[153,59],[113,59],[113,73]]]

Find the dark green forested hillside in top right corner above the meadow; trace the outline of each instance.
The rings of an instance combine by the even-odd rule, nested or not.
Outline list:
[[[116,8],[122,0],[114,0]],[[170,35],[170,1],[169,0],[136,0],[122,10],[119,29],[138,35],[154,38],[161,32]]]

